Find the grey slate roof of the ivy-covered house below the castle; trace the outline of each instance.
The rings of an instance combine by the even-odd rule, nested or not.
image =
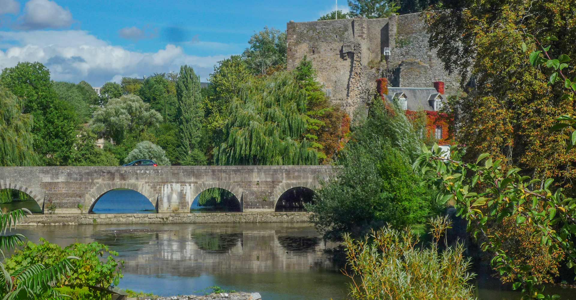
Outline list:
[[[442,103],[446,101],[435,88],[388,88],[388,95],[385,97],[392,101],[402,93],[407,97],[407,107],[410,111],[434,111],[434,102],[430,100],[438,96],[442,98]]]

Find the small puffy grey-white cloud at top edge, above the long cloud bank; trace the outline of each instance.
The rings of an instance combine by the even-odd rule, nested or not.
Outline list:
[[[70,10],[50,0],[26,2],[24,14],[18,18],[18,21],[16,28],[24,30],[69,28],[74,22]]]

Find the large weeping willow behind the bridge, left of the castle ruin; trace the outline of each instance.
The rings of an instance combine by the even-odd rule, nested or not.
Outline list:
[[[304,138],[306,93],[293,75],[278,72],[245,84],[229,107],[217,165],[312,165],[316,150]]]

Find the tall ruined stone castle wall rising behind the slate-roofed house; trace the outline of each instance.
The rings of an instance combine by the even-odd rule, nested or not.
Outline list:
[[[286,25],[287,69],[306,55],[317,80],[335,104],[353,116],[376,91],[376,79],[388,78],[399,88],[433,88],[444,82],[456,92],[458,79],[449,75],[428,44],[422,13],[389,18],[351,18]],[[420,101],[414,99],[414,101]]]

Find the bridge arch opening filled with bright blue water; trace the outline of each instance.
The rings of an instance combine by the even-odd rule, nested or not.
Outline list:
[[[94,214],[153,214],[156,207],[141,193],[127,188],[116,188],[96,199],[88,210]]]

